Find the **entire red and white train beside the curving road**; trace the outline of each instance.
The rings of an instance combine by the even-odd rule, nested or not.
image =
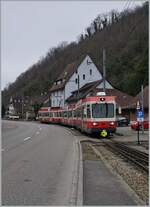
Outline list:
[[[87,134],[106,137],[116,131],[114,96],[89,96],[64,109],[43,107],[39,110],[42,123],[57,123],[75,127]]]

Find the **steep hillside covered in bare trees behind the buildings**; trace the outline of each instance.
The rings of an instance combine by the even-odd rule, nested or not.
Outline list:
[[[98,15],[77,42],[64,42],[51,48],[45,57],[5,88],[3,103],[6,105],[10,96],[38,97],[48,92],[65,66],[83,54],[88,53],[101,70],[103,48],[106,49],[107,79],[114,87],[136,95],[141,84],[148,85],[148,12],[147,2],[134,10]]]

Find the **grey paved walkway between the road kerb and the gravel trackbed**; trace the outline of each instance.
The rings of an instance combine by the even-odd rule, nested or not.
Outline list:
[[[139,205],[128,186],[102,160],[84,160],[83,169],[83,205]]]

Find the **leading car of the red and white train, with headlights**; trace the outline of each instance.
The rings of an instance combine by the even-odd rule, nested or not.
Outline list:
[[[116,103],[114,96],[92,96],[76,105],[77,128],[88,134],[105,137],[116,131]],[[81,111],[81,112],[80,112]]]

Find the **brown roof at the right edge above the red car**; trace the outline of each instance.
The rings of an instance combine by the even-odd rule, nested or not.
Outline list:
[[[139,101],[141,104],[141,99],[142,99],[142,92],[138,93],[131,102],[129,102],[127,105],[125,105],[124,108],[131,108],[131,109],[136,109],[137,107],[137,102]],[[149,87],[146,86],[143,90],[143,103],[144,103],[144,108],[149,108]]]

